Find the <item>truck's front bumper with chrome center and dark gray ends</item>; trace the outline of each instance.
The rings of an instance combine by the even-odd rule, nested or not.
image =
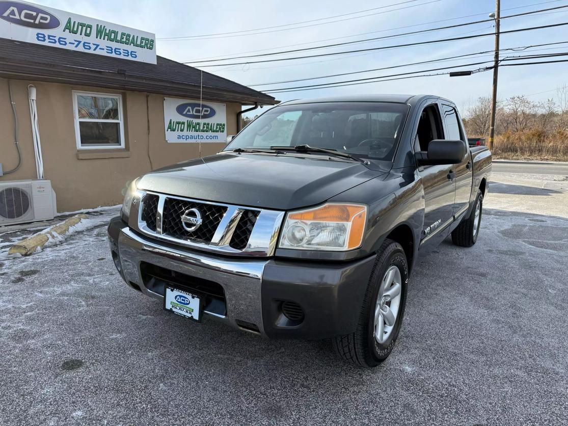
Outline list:
[[[353,332],[375,260],[213,256],[141,236],[119,217],[108,225],[108,237],[116,268],[133,289],[162,300],[164,282],[196,286],[210,294],[204,316],[267,337],[323,339]],[[293,319],[283,306],[295,307]]]

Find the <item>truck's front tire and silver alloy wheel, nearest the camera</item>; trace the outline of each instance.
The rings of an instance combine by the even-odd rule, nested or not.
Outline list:
[[[386,279],[387,273],[393,274],[390,284],[389,280]],[[400,286],[398,296],[395,295],[395,284]],[[385,292],[387,287],[389,287],[390,292]],[[333,341],[335,352],[344,360],[362,367],[376,367],[382,361],[385,361],[391,354],[400,331],[404,307],[406,306],[407,287],[408,264],[404,249],[395,241],[387,239],[377,252],[357,329],[348,335],[335,337]],[[381,299],[379,299],[379,295],[381,295]],[[389,300],[385,300],[385,298]],[[398,307],[395,306],[396,304],[398,304]],[[375,310],[377,309],[381,310],[381,316],[378,316],[379,320],[375,326]],[[395,317],[394,325],[390,326],[386,324],[386,321],[389,319],[392,321],[392,317],[389,315],[389,318],[385,319],[386,316],[382,316],[383,312],[388,313],[389,310]],[[375,333],[379,334],[377,327],[381,324],[383,341],[379,342]]]

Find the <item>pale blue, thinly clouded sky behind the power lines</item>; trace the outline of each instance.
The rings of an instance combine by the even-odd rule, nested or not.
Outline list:
[[[156,34],[158,55],[176,61],[196,61],[211,59],[212,57],[241,56],[239,54],[242,52],[258,51],[254,53],[244,53],[245,55],[254,55],[256,53],[316,47],[330,43],[345,43],[346,41],[355,41],[370,37],[397,35],[402,32],[488,19],[488,14],[495,10],[494,0],[380,0],[359,1],[356,3],[339,0],[287,0],[286,2],[267,0],[216,0],[203,2],[196,2],[194,0],[162,0],[159,2],[149,0],[136,2],[128,0],[98,0],[97,2],[86,0],[43,0],[38,3],[44,6],[56,7],[57,9],[122,24],[127,27],[153,32]],[[346,5],[349,4],[350,6],[346,7]],[[501,15],[506,16],[562,5],[568,5],[568,1],[502,0]],[[382,7],[382,9],[377,9],[379,7]],[[368,9],[374,10],[360,12]],[[344,14],[350,15],[339,16],[332,19],[321,19]],[[318,20],[315,22],[286,26],[291,23],[316,19]],[[341,20],[341,22],[328,23],[333,20]],[[431,23],[440,20],[444,20],[444,22]],[[541,14],[502,19],[501,31],[561,22],[568,22],[568,8]],[[272,30],[256,31],[257,33],[263,32],[264,34],[249,35],[247,32],[243,32],[245,30],[274,26],[279,27],[273,28]],[[400,28],[407,26],[412,27]],[[238,33],[239,31],[241,32]],[[399,36],[383,40],[367,41],[365,43],[348,44],[340,47],[273,56],[272,58],[307,56],[316,53],[417,43],[426,40],[491,32],[494,32],[494,24],[492,22],[483,22],[449,30],[433,31],[426,34]],[[168,37],[201,36],[219,33],[232,34],[177,41],[162,40]],[[551,43],[554,41],[568,41],[568,26],[503,34],[501,36],[500,47],[517,48],[534,44]],[[482,57],[475,57],[474,59],[466,58],[450,62],[406,66],[404,68],[359,73],[352,76],[326,78],[322,80],[309,80],[300,83],[281,83],[277,85],[268,85],[266,83],[384,68],[387,66],[427,61],[466,53],[491,51],[493,48],[494,37],[485,36],[477,39],[350,53],[348,55],[261,64],[214,66],[203,68],[203,70],[229,78],[230,80],[244,85],[255,85],[253,86],[254,89],[266,90],[267,93],[273,95],[280,101],[350,94],[428,93],[452,99],[464,110],[473,105],[475,99],[478,97],[491,94],[491,71],[476,73],[467,77],[449,77],[447,75],[419,77],[355,86],[328,87],[319,90],[302,90],[291,93],[270,93],[268,90],[277,89],[279,87],[378,77],[438,68],[441,66],[467,64],[469,62],[492,61],[492,53],[488,53]],[[537,51],[537,49],[546,50]],[[502,52],[502,57],[527,55],[529,52],[536,54],[568,52],[568,43],[527,49],[524,52]],[[270,57],[226,61],[225,63],[262,59],[270,59]],[[554,59],[566,58],[560,57]],[[209,64],[211,63],[214,62],[210,62]],[[219,63],[222,64],[223,62]],[[479,66],[485,65],[491,64],[487,62],[487,64],[484,65],[457,69],[476,69],[479,68]],[[195,64],[195,66],[197,66],[197,64]],[[564,86],[568,83],[567,71],[568,62],[501,67],[499,69],[498,97],[505,99],[513,95],[527,95],[532,101],[545,101],[548,98],[555,98],[557,96],[557,87]]]

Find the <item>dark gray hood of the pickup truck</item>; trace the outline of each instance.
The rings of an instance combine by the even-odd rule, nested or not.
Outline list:
[[[360,162],[295,154],[220,153],[144,175],[139,189],[240,206],[312,206],[388,170]]]

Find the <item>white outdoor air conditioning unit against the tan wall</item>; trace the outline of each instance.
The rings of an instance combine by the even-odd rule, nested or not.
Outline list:
[[[51,181],[0,182],[0,226],[50,220],[56,214]]]

